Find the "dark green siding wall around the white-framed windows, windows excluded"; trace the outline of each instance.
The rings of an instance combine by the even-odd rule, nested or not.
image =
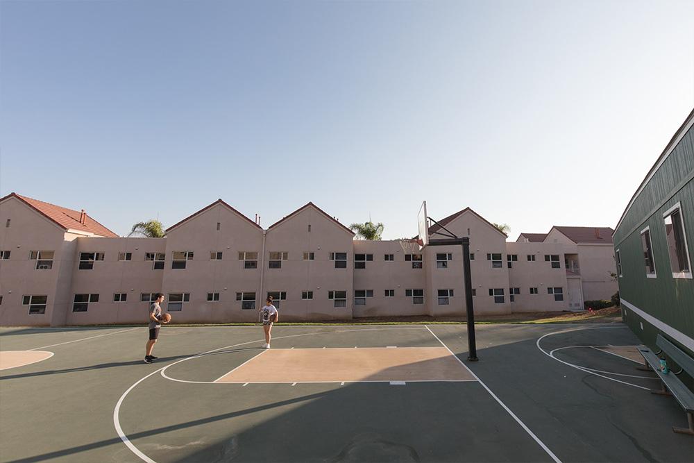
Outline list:
[[[689,260],[694,264],[694,130],[670,153],[668,159],[645,185],[641,194],[615,230],[614,247],[620,251],[622,278],[620,297],[672,328],[694,338],[694,280],[673,278],[666,243],[663,212],[677,202],[682,205]],[[657,278],[646,278],[641,230],[650,227]],[[626,308],[625,308],[626,309]],[[628,310],[628,309],[626,309]],[[625,321],[649,345],[658,330],[633,312]],[[681,346],[682,347],[682,346]],[[688,349],[687,349],[688,350]],[[690,355],[694,352],[689,351]]]

